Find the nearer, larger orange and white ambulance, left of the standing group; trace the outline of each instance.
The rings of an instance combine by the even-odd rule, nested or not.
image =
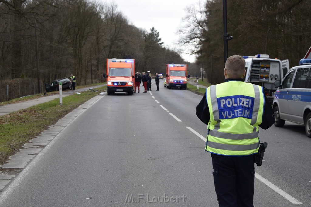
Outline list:
[[[133,95],[135,83],[135,60],[134,59],[107,59],[107,95],[115,92],[126,92]]]

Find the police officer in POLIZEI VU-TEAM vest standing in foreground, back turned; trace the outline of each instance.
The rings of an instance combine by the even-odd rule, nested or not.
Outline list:
[[[259,149],[259,127],[274,123],[263,88],[245,83],[245,60],[230,56],[225,81],[207,88],[196,115],[207,124],[206,151],[219,206],[253,206],[254,155]]]

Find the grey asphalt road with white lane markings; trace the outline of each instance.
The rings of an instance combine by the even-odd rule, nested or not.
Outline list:
[[[201,96],[187,90],[103,96],[0,194],[0,206],[218,206]],[[311,139],[286,123],[259,133],[255,206],[311,206]]]

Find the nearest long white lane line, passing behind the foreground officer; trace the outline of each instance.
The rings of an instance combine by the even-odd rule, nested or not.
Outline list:
[[[197,133],[193,128],[191,127],[187,127],[191,132],[193,132],[195,135],[197,135],[198,137],[200,137],[204,142],[206,142],[206,138],[203,137],[201,134]],[[276,185],[274,185],[272,182],[269,182],[268,180],[266,180],[265,178],[263,178],[262,176],[260,176],[258,173],[255,173],[255,177],[260,180],[261,182],[263,182],[264,184],[266,184],[268,187],[270,187],[272,190],[276,191],[278,194],[280,194],[281,196],[283,196],[285,199],[287,199],[288,201],[290,201],[292,204],[303,204],[301,203],[299,200],[295,199],[293,196],[290,196],[288,193],[286,193],[285,191],[283,191],[281,188],[277,187]]]

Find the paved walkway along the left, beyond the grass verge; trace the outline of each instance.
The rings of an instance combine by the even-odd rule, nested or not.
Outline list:
[[[99,88],[99,87],[102,87],[102,86],[105,86],[105,85],[106,84],[98,85],[98,86],[94,86],[94,87],[92,86],[92,87],[89,87],[89,88],[80,88],[80,89],[76,89],[75,91],[66,90],[66,91],[63,91],[62,97],[66,97],[66,96],[69,96],[69,95],[77,93],[77,92],[88,91],[90,88]],[[26,109],[26,108],[28,108],[30,106],[35,106],[35,105],[40,104],[40,103],[45,103],[45,102],[54,100],[56,98],[59,98],[59,94],[50,95],[50,96],[47,95],[47,96],[44,96],[44,97],[41,97],[41,98],[37,98],[37,99],[29,100],[29,101],[23,101],[21,103],[14,103],[14,104],[7,104],[7,105],[4,105],[4,106],[0,106],[0,116],[9,114],[9,113],[11,113],[13,111],[18,111],[18,110]]]

